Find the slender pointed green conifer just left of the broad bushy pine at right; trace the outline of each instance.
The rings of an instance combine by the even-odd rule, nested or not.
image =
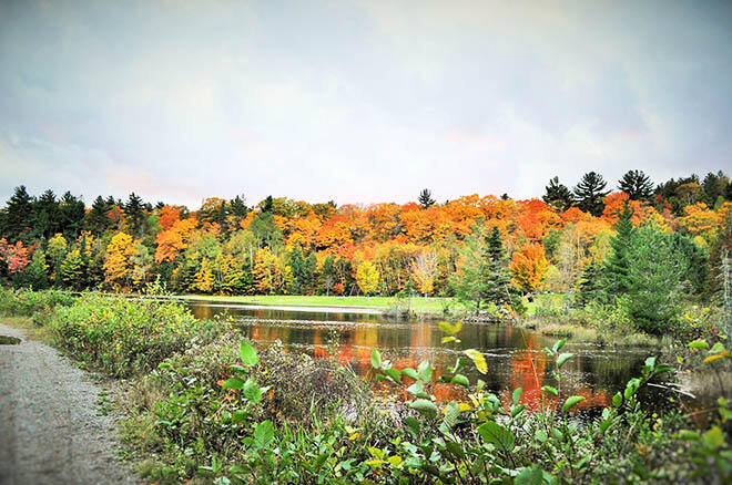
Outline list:
[[[603,268],[603,289],[609,296],[620,296],[628,292],[630,272],[630,248],[633,244],[636,228],[633,227],[633,209],[626,202],[620,218],[613,226],[616,235],[610,239],[612,252]]]

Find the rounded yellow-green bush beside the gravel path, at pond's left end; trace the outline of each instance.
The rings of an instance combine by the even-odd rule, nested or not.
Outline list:
[[[114,378],[149,372],[175,352],[213,340],[224,324],[200,321],[182,305],[85,293],[54,312],[55,344]]]

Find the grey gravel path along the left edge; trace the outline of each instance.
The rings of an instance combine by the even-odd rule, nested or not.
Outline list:
[[[55,350],[0,323],[0,484],[134,484],[116,456],[114,417],[100,392]]]

